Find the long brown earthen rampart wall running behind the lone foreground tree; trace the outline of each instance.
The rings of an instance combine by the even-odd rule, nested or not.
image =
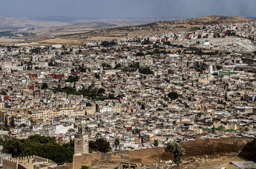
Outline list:
[[[229,138],[200,138],[195,141],[180,143],[185,149],[185,158],[200,156],[216,156],[232,154],[234,156],[251,143],[253,138],[229,137]],[[253,144],[254,145],[254,144]],[[164,152],[165,147],[154,147],[134,151],[93,152],[92,154],[75,154],[73,157],[73,169],[81,169],[81,166],[118,166],[121,161],[128,163],[141,163],[143,165],[154,163],[157,160],[173,159],[172,154]]]

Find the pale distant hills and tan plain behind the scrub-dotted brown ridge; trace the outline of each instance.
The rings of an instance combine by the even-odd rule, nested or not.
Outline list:
[[[138,26],[177,18],[83,18],[83,17],[0,17],[0,31],[33,27],[40,37],[85,33],[112,27]]]

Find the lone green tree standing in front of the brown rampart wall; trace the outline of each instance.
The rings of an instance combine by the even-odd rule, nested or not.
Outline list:
[[[179,164],[182,162],[181,158],[185,154],[183,147],[177,142],[168,142],[165,151],[173,154],[173,162],[177,164],[177,169],[179,169]]]

